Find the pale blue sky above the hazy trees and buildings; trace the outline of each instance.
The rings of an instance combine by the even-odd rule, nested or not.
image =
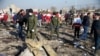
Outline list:
[[[86,6],[100,6],[100,0],[0,0],[0,8],[6,8],[10,4],[15,4],[20,8],[57,8],[70,7],[77,8]]]

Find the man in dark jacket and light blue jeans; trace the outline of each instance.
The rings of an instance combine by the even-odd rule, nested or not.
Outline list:
[[[82,25],[83,25],[83,28],[84,28],[84,32],[82,33],[80,39],[81,40],[86,40],[87,39],[88,28],[90,26],[90,13],[87,13],[87,15],[84,16]]]

